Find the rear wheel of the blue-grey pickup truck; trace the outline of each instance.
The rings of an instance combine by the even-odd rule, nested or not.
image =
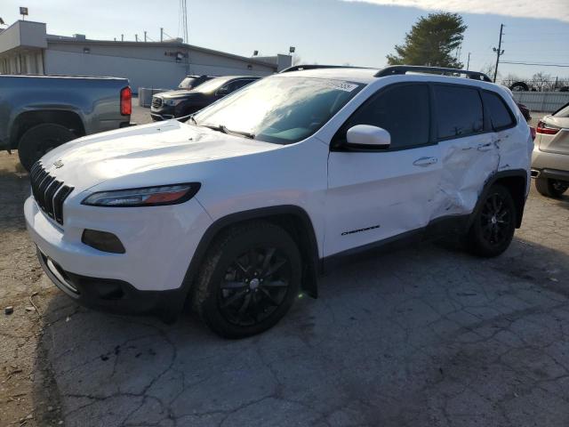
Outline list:
[[[22,135],[18,144],[20,163],[29,171],[49,150],[75,138],[75,133],[62,125],[45,123],[31,127]]]

